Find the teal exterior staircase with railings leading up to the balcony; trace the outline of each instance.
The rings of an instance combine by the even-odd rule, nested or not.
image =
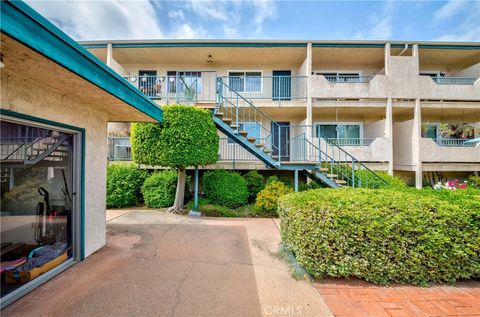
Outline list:
[[[333,188],[378,188],[385,184],[380,176],[328,138],[319,136],[315,138],[315,143],[314,138],[307,137],[306,132],[289,138],[288,146],[293,153],[289,161],[283,161],[279,140],[285,131],[280,124],[232,89],[222,78],[217,79],[213,120],[221,132],[268,167],[299,170],[312,180]],[[247,124],[250,128],[253,124],[257,132],[255,135],[249,134],[245,128]]]

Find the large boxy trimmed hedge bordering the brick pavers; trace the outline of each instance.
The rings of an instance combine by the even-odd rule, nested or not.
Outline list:
[[[283,243],[316,278],[480,277],[479,191],[318,189],[284,196],[278,213]]]

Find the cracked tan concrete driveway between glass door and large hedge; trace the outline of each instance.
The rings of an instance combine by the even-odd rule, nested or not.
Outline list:
[[[2,316],[332,316],[277,256],[273,219],[108,212],[108,245]]]

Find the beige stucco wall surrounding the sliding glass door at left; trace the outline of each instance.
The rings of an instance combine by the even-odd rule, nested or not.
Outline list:
[[[1,108],[84,128],[85,256],[106,243],[107,117],[93,105],[5,71],[1,74]]]

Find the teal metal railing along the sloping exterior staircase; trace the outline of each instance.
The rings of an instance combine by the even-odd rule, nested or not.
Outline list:
[[[265,140],[261,147],[269,147],[274,155],[276,152],[278,166],[281,165],[281,140],[283,133],[286,133],[282,131],[282,126],[255,107],[251,101],[235,89],[229,87],[221,78],[217,79],[217,100],[214,113],[217,116],[221,114],[223,122],[228,123],[235,134],[242,136],[245,136],[247,132],[242,131],[242,129],[246,129],[245,125],[253,124],[253,127],[250,126],[250,130],[256,130],[253,132],[254,142],[259,139]],[[290,127],[288,129],[288,135],[290,135]],[[302,133],[287,140],[286,146],[291,150],[289,155],[291,161],[308,162],[318,166],[320,171],[325,172],[329,178],[326,181],[334,182],[332,186],[337,184],[337,186],[378,188],[386,184],[375,172],[328,138],[319,137],[318,146],[315,145],[310,138],[307,138],[307,134],[313,135],[313,129],[310,129],[309,132],[306,131],[309,130],[305,129]],[[321,147],[322,140],[324,149]]]

